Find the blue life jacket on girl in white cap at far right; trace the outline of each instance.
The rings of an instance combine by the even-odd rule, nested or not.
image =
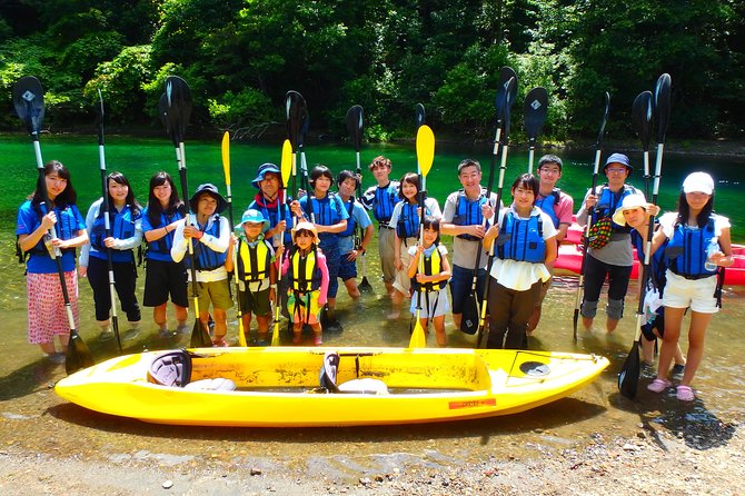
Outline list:
[[[714,217],[709,217],[703,228],[691,228],[676,224],[673,237],[667,244],[665,256],[667,266],[679,276],[703,278],[713,276],[717,270],[706,270],[706,248],[714,238]]]

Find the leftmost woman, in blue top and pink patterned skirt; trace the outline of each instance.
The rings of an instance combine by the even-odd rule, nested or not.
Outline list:
[[[68,169],[61,162],[51,160],[43,167],[43,181],[51,205],[44,205],[41,185],[38,183],[33,197],[18,209],[16,235],[21,252],[28,255],[26,294],[29,343],[39,345],[49,359],[61,364],[67,353],[70,326],[53,257],[58,256],[57,252],[61,256],[77,328],[79,314],[74,249],[88,244],[88,232],[86,221],[76,206],[78,196]],[[57,239],[49,236],[52,228]],[[57,353],[54,336],[59,337],[61,353]]]

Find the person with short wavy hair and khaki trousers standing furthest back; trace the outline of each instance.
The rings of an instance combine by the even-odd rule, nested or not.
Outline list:
[[[394,280],[396,279],[396,264],[394,257],[394,246],[396,245],[395,229],[390,225],[390,216],[394,214],[394,207],[398,202],[398,181],[389,179],[393,165],[389,158],[378,156],[370,162],[369,169],[372,172],[377,185],[367,188],[359,201],[362,206],[372,210],[375,219],[378,221],[378,251],[380,252],[380,269],[383,270],[383,282],[386,285],[386,291],[390,297],[394,296]]]

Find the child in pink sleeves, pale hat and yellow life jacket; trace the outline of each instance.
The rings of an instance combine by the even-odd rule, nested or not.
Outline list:
[[[326,305],[329,286],[326,256],[318,248],[320,240],[316,226],[311,222],[298,222],[292,229],[292,246],[277,248],[277,258],[281,260],[280,276],[288,275],[288,311],[292,315],[292,343],[302,339],[302,326],[308,324],[314,331],[314,345],[324,343],[319,314]]]

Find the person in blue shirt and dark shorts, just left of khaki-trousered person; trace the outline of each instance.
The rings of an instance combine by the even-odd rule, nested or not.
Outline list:
[[[359,298],[357,257],[364,256],[367,251],[367,247],[372,240],[375,228],[365,207],[355,198],[355,191],[359,187],[359,177],[351,170],[342,170],[336,177],[336,186],[339,188],[339,197],[349,215],[347,228],[339,232],[339,254],[341,254],[339,278],[347,287],[349,296],[357,299]],[[357,238],[355,231],[357,229],[362,232],[362,237],[359,240],[359,245],[355,246]]]

